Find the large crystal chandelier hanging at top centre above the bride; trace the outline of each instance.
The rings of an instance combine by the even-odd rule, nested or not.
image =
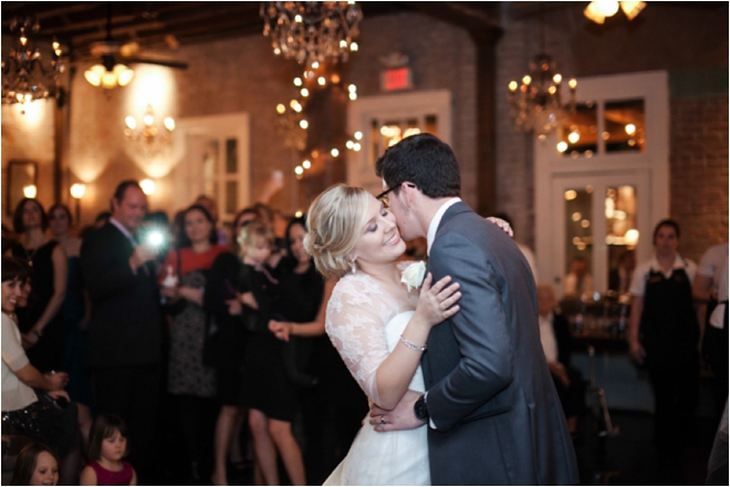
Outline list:
[[[274,54],[312,69],[324,61],[347,61],[363,12],[356,2],[261,2],[263,34]]]

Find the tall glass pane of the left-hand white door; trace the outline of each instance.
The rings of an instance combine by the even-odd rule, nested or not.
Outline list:
[[[593,249],[593,188],[575,188],[565,191],[565,274],[571,272],[571,265],[577,257],[587,262],[588,273]]]

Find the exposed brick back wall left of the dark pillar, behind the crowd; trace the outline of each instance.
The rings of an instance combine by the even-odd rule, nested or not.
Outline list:
[[[355,82],[361,97],[382,94],[379,58],[396,50],[409,56],[416,90],[451,91],[452,146],[462,170],[463,197],[473,205],[478,191],[476,48],[468,32],[427,15],[403,13],[364,19],[358,42],[359,52],[342,66],[342,79],[345,83]],[[299,160],[281,142],[274,108],[296,95],[292,80],[301,74],[301,68],[292,60],[274,56],[263,35],[184,45],[168,55],[189,63],[188,70],[175,71],[177,94],[171,114],[185,118],[248,112],[252,196],[274,169],[283,172],[288,188],[295,187],[293,167]],[[88,221],[107,207],[108,195],[119,180],[147,176],[125,154],[122,128],[128,102],[124,90],[104,93],[93,89],[80,68],[72,94],[71,172],[88,173],[93,166],[98,173],[84,197],[83,219]],[[149,198],[152,208],[170,214],[178,209],[173,208],[170,193],[175,190],[175,170],[158,184],[159,191]],[[293,213],[299,209],[298,200],[295,190],[284,190],[271,203]]]

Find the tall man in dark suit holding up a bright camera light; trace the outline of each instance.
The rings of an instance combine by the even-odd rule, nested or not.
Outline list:
[[[134,180],[117,186],[112,217],[81,247],[81,267],[92,299],[88,365],[97,413],[121,416],[129,428],[131,462],[144,475],[152,457],[160,393],[161,314],[156,250],[135,235],[147,197]]]

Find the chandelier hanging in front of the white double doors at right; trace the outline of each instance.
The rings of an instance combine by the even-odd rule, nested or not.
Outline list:
[[[555,72],[555,62],[548,54],[538,54],[530,62],[530,73],[522,77],[522,83],[510,81],[510,114],[518,127],[524,132],[534,132],[540,138],[557,128],[567,120],[569,112],[575,112],[575,86],[570,80],[569,104],[562,100],[563,76]]]

